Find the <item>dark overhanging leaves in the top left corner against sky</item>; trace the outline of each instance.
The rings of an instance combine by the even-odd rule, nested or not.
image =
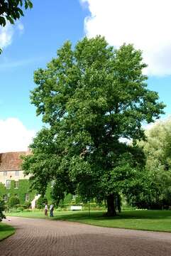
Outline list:
[[[32,7],[30,0],[0,0],[0,26],[6,26],[6,21],[13,24],[23,16],[23,8],[31,9]]]

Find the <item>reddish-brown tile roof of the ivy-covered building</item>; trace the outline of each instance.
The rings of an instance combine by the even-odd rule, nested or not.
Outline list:
[[[26,155],[28,152],[8,152],[0,154],[0,171],[15,171],[21,170],[22,159],[21,155]]]

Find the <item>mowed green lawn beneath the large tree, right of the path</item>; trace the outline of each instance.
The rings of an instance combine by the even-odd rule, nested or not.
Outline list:
[[[123,211],[116,217],[106,217],[104,212],[92,211],[55,211],[54,218],[45,217],[43,211],[11,213],[10,215],[26,218],[48,218],[98,225],[109,228],[127,228],[134,230],[152,230],[171,232],[171,210],[131,210]]]

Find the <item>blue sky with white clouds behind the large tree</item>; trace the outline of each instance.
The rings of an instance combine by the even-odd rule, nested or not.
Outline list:
[[[33,71],[45,68],[66,40],[106,37],[133,43],[148,63],[148,87],[171,114],[171,2],[168,0],[33,0],[15,26],[0,28],[0,152],[26,150],[42,126],[30,104]]]

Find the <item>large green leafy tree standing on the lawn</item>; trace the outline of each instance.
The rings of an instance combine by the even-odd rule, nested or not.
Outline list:
[[[48,128],[35,137],[23,169],[45,191],[53,181],[57,201],[65,192],[84,200],[114,199],[143,169],[143,152],[122,139],[144,139],[143,122],[153,122],[164,105],[148,90],[142,53],[132,45],[118,50],[104,38],[66,42],[47,68],[35,71],[31,102]]]

